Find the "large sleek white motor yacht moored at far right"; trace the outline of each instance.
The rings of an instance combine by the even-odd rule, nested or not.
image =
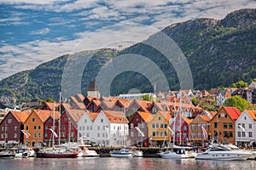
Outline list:
[[[252,153],[231,150],[224,145],[212,145],[203,153],[197,154],[197,160],[223,160],[223,161],[236,161],[247,160]]]

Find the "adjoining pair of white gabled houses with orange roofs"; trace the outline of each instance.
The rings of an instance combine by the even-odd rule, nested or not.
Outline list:
[[[105,146],[126,145],[128,120],[121,111],[85,112],[78,122],[79,137]]]

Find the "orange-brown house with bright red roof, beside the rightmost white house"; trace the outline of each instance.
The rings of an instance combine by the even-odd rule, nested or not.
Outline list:
[[[210,122],[210,139],[219,144],[235,144],[236,120],[240,115],[236,107],[221,106]]]

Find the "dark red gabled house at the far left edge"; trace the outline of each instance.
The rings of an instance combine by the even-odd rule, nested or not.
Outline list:
[[[0,144],[24,144],[24,122],[31,114],[29,111],[9,111],[0,123]]]

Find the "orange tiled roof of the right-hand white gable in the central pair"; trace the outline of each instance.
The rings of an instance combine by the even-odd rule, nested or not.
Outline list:
[[[128,123],[129,122],[122,111],[102,111],[102,113],[108,118],[109,122],[112,122],[112,123]]]

